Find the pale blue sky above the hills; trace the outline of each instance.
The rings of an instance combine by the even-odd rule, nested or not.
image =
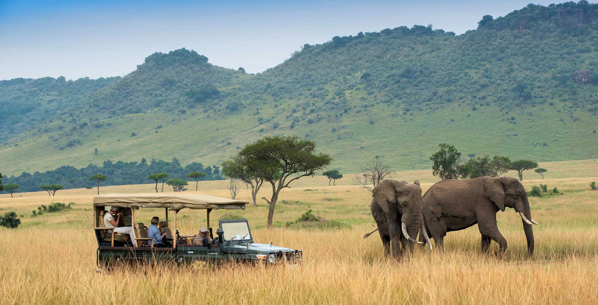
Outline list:
[[[460,34],[485,14],[504,16],[528,3],[0,0],[0,80],[123,76],[149,54],[182,47],[257,73],[332,36],[429,23]]]

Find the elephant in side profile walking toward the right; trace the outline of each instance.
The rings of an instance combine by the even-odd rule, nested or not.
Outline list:
[[[478,224],[482,251],[487,252],[490,240],[494,240],[502,254],[507,249],[507,240],[496,226],[496,212],[505,211],[505,207],[515,209],[521,216],[527,251],[532,255],[532,224],[538,222],[532,219],[527,193],[517,179],[486,176],[437,182],[423,195],[422,213],[428,234],[439,248],[444,249],[443,239],[447,232]]]

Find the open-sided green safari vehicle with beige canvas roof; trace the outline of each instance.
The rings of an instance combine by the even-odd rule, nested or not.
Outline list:
[[[249,222],[246,219],[221,220],[213,236],[210,228],[210,212],[215,209],[245,209],[248,202],[231,200],[200,194],[107,194],[93,199],[94,231],[97,239],[97,266],[102,268],[117,262],[155,262],[175,261],[176,263],[193,263],[206,261],[255,262],[255,263],[299,263],[303,260],[301,250],[293,250],[278,246],[255,243]],[[118,227],[135,224],[135,240],[128,234],[116,233],[104,227],[105,213],[117,207],[123,211]],[[141,219],[135,218],[139,208],[163,209],[164,221],[158,227],[161,233],[166,232],[172,238],[172,246],[157,248],[147,238],[147,227]],[[182,209],[206,209],[208,215],[209,235],[212,241],[205,238],[200,245],[192,243],[194,235],[179,234],[176,229],[176,215]],[[172,223],[169,213],[172,212]],[[145,219],[144,219],[145,220]],[[172,226],[171,226],[172,225]],[[196,232],[199,231],[199,227]],[[174,234],[174,235],[173,235]],[[174,237],[173,237],[174,236]]]

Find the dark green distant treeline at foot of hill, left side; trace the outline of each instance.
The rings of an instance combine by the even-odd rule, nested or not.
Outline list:
[[[178,158],[172,158],[170,162],[152,159],[149,163],[145,158],[142,158],[141,162],[117,161],[113,163],[106,160],[102,166],[89,164],[81,169],[72,166],[60,166],[55,170],[48,170],[43,173],[35,172],[30,174],[23,172],[19,176],[4,176],[2,184],[19,184],[19,190],[15,191],[17,193],[39,191],[39,186],[44,184],[62,184],[65,189],[91,187],[93,183],[88,179],[96,173],[107,176],[102,185],[127,185],[155,183],[148,179],[148,176],[152,173],[167,173],[169,178],[188,180],[187,174],[196,171],[206,174],[200,181],[224,179],[220,167],[216,165],[203,167],[202,163],[193,162],[183,167]]]

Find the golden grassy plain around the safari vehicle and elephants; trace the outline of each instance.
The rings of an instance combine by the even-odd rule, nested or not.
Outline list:
[[[367,191],[350,185],[347,175],[328,187],[322,176],[302,178],[285,189],[274,219],[277,224],[313,209],[328,219],[350,224],[336,231],[264,228],[267,206],[248,205],[237,211],[249,219],[255,239],[303,249],[298,269],[224,266],[184,270],[156,269],[96,273],[91,200],[96,190],[64,190],[56,197],[45,192],[0,195],[0,211],[24,215],[16,230],[0,228],[0,303],[2,304],[588,304],[598,299],[598,162],[593,160],[541,164],[550,170],[542,179],[564,194],[530,198],[536,252],[526,257],[521,219],[512,209],[498,213],[498,226],[507,238],[507,257],[480,253],[477,226],[449,233],[446,252],[417,248],[408,260],[382,255],[368,215]],[[512,175],[513,173],[509,173]],[[527,178],[539,175],[527,172]],[[422,181],[423,191],[436,179],[429,170],[398,172],[395,179]],[[167,190],[165,188],[165,190]],[[101,187],[100,193],[150,192],[152,185]],[[267,196],[264,187],[261,196]],[[194,192],[190,192],[194,193]],[[224,181],[200,183],[198,193],[228,196]],[[249,200],[243,189],[240,199]],[[72,211],[32,218],[30,211],[50,202],[75,202]],[[141,211],[141,210],[140,210]],[[214,211],[217,219],[225,211]],[[141,211],[141,218],[160,212]],[[182,215],[182,216],[181,216]],[[179,213],[179,231],[195,234],[205,225],[205,212]],[[212,223],[212,227],[216,227]],[[498,246],[493,243],[492,249]]]

